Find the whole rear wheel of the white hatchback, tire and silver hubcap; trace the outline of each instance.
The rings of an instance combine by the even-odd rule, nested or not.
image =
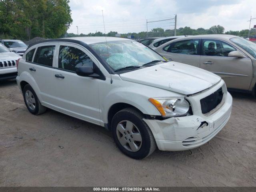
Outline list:
[[[26,84],[23,88],[23,98],[30,113],[39,115],[46,111],[46,107],[42,106],[36,93],[29,84]]]

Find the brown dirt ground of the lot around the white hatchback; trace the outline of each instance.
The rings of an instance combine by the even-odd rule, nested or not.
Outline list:
[[[208,144],[133,160],[104,128],[53,110],[34,116],[16,82],[1,82],[0,186],[256,186],[256,99],[232,96]]]

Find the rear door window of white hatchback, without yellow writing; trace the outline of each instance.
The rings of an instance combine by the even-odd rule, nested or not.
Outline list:
[[[54,45],[38,47],[34,62],[46,66],[52,66],[54,49]]]

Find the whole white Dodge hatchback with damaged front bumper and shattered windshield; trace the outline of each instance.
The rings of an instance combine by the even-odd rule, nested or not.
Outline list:
[[[141,159],[196,148],[228,122],[232,97],[206,70],[167,62],[140,42],[79,37],[30,45],[18,62],[28,110],[46,108],[112,132],[118,148]]]

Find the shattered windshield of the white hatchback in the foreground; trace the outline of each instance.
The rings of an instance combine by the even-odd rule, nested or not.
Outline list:
[[[91,48],[96,51],[114,70],[130,66],[142,66],[143,64],[161,60],[165,61],[162,56],[144,46],[140,42],[124,40],[100,42],[91,44]]]

